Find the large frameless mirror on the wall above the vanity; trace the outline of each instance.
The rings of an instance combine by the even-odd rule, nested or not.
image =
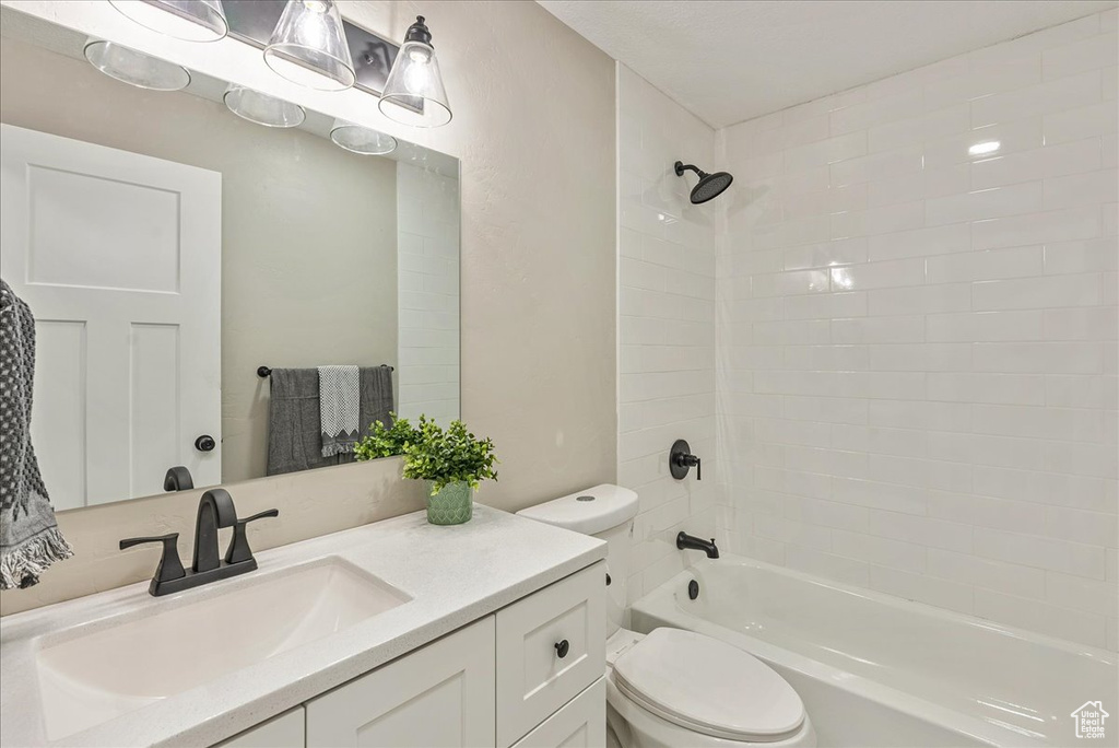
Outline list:
[[[354,152],[336,141],[392,139],[0,19],[0,275],[36,318],[31,440],[57,509],[163,493],[177,466],[201,487],[351,460],[320,454],[323,410],[359,432],[458,418],[455,159]],[[349,368],[320,409],[326,366]]]

